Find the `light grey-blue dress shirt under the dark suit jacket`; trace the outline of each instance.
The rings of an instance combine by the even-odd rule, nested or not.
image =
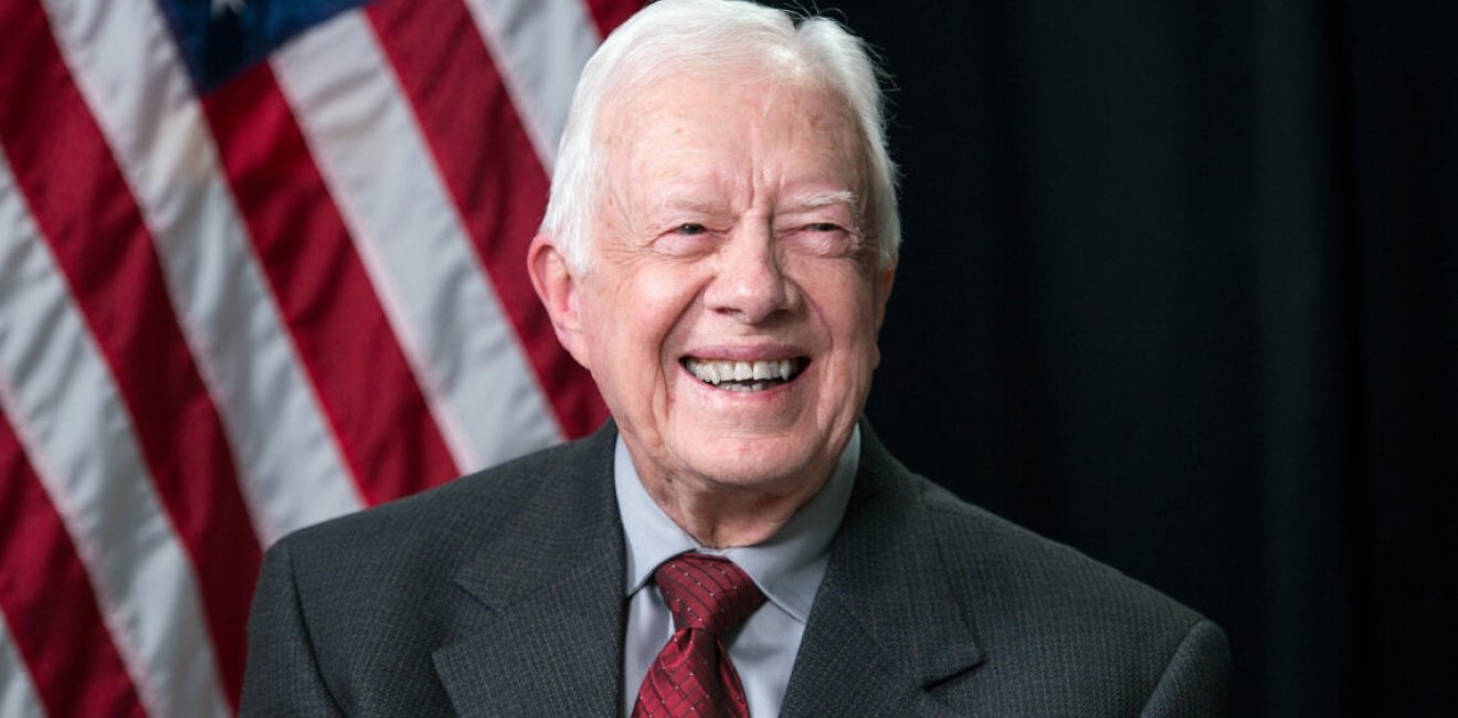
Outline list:
[[[647,495],[623,436],[612,457],[612,474],[627,544],[624,595],[628,597],[628,625],[623,642],[623,715],[633,714],[639,687],[647,667],[674,635],[674,614],[650,585],[653,569],[669,557],[688,550],[725,556],[754,579],[765,601],[725,638],[729,660],[739,671],[749,715],[768,718],[780,714],[784,689],[790,683],[795,654],[800,649],[805,622],[815,603],[815,591],[825,576],[830,541],[840,527],[850,502],[860,460],[860,428],[851,433],[825,486],[800,506],[770,540],[736,549],[698,546]]]

